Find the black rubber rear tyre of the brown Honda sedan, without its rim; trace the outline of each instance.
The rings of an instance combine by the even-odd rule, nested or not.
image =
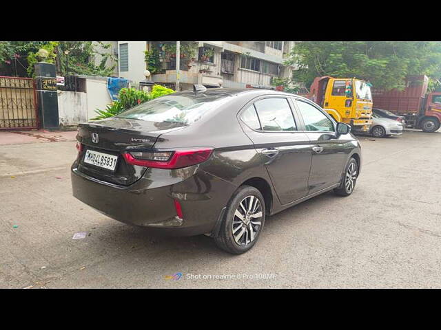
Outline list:
[[[234,241],[233,233],[232,233],[232,221],[234,219],[234,212],[239,206],[240,201],[242,201],[245,197],[254,196],[259,199],[260,205],[262,206],[263,217],[260,219],[262,224],[260,225],[259,231],[257,232],[257,236],[254,238],[252,243],[249,243],[247,246],[240,246]],[[219,236],[216,241],[222,240],[225,246],[220,246],[224,250],[234,254],[241,254],[250,250],[258,241],[260,233],[263,230],[265,225],[265,200],[263,199],[262,194],[259,190],[252,186],[240,186],[238,190],[232,196],[232,199],[229,200],[227,205],[227,210],[225,210],[225,217],[223,219],[222,225],[220,226]],[[219,245],[219,244],[218,244]],[[227,248],[227,249],[225,249]]]

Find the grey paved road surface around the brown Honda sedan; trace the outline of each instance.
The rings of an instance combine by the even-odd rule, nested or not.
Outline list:
[[[351,197],[270,217],[240,256],[207,236],[147,236],[74,199],[74,142],[2,145],[0,287],[441,287],[441,133],[360,140]]]

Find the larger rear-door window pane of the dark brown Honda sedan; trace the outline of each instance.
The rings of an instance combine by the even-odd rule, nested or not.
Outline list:
[[[265,98],[254,103],[264,131],[296,131],[286,98]]]

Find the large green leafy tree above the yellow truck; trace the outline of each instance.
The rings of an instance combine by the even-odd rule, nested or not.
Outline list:
[[[291,50],[292,81],[309,87],[317,76],[356,77],[373,87],[404,89],[406,76],[441,77],[438,41],[303,41]]]

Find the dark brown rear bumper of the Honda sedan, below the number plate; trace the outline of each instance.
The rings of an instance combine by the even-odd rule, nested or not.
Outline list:
[[[194,170],[193,175],[174,170],[170,177],[170,170],[161,171],[147,170],[149,174],[134,184],[118,186],[88,177],[74,163],[72,192],[74,197],[112,219],[151,228],[158,234],[192,236],[212,232],[220,211],[236,188],[202,170]],[[183,219],[177,216],[175,201],[181,204]]]

